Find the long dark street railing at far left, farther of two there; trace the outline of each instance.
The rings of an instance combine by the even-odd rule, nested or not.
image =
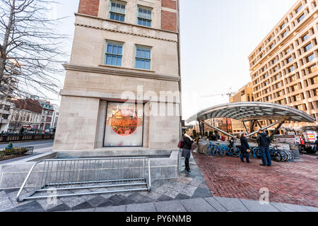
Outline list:
[[[0,143],[8,143],[12,141],[36,141],[54,139],[54,133],[49,134],[1,134]]]

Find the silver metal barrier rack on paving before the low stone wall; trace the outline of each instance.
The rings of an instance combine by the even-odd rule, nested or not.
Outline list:
[[[26,197],[21,198],[25,187],[33,187],[35,191],[26,192]],[[86,191],[75,192],[80,189]],[[56,194],[52,195],[52,191]],[[148,157],[40,160],[28,172],[17,201],[124,191],[151,191]]]

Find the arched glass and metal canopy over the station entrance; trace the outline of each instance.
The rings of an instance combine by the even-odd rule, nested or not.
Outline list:
[[[260,130],[259,129],[258,131],[253,131],[255,123],[259,124],[259,120],[276,121],[275,123],[269,126],[265,126],[263,128],[261,127],[261,124],[259,124],[259,127],[261,129],[268,129],[271,126],[278,124],[276,129],[273,131],[273,134],[275,134],[278,131],[278,129],[281,128],[285,121],[303,121],[311,123],[315,121],[315,119],[311,117],[309,114],[306,114],[305,112],[285,105],[278,105],[267,102],[235,102],[230,104],[217,105],[215,107],[205,109],[187,119],[187,122],[189,123],[192,121],[199,121],[201,122],[200,128],[204,128],[203,124],[206,124],[207,126],[210,126],[213,129],[216,129],[217,131],[220,131],[221,133],[224,133],[227,136],[235,138],[229,133],[226,133],[225,131],[222,131],[216,128],[215,126],[212,126],[205,122],[206,119],[212,118],[230,118],[242,121],[246,131],[247,127],[245,125],[245,122],[252,121],[251,133],[249,133],[248,136],[252,136]]]

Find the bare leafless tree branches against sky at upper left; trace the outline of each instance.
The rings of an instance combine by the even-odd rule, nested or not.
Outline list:
[[[0,95],[48,98],[57,94],[66,59],[54,1],[0,0]]]

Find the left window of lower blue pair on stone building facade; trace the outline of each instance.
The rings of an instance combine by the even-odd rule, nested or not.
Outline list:
[[[122,66],[122,44],[107,42],[106,65]]]

